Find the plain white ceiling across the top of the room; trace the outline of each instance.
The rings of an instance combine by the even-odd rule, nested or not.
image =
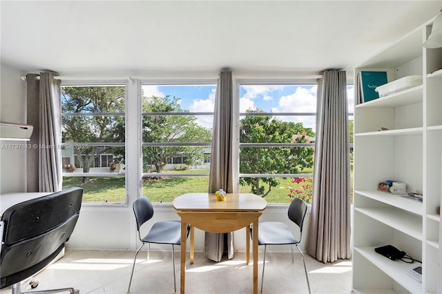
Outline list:
[[[59,75],[320,72],[361,63],[442,1],[1,1],[1,62]]]

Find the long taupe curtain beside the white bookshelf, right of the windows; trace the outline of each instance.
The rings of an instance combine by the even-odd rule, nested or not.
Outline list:
[[[314,188],[308,253],[321,262],[348,259],[350,157],[344,70],[326,70],[318,82]]]

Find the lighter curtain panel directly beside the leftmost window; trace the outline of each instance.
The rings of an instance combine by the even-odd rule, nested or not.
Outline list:
[[[61,190],[60,81],[40,73],[39,192]]]

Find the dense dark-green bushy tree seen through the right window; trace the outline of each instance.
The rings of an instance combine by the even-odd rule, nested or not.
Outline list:
[[[309,137],[314,137],[314,132],[302,123],[271,116],[246,116],[240,121],[241,143],[307,143]],[[313,154],[309,147],[244,147],[240,151],[240,173],[299,173],[313,166]],[[250,185],[251,193],[265,197],[279,182],[274,177],[242,177],[240,184]]]

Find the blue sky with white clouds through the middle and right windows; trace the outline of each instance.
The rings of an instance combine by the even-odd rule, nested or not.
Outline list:
[[[144,85],[144,97],[180,98],[182,109],[190,112],[213,112],[216,85],[157,86]],[[265,112],[316,112],[316,85],[241,85],[240,112],[255,110]],[[353,86],[347,87],[349,112],[353,112]],[[283,121],[302,122],[304,127],[315,130],[314,116],[278,117]],[[211,117],[198,116],[198,123],[212,127]]]

